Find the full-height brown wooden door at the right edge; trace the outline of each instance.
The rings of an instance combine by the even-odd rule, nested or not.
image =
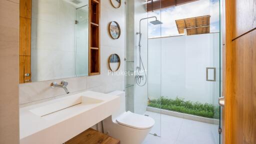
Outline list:
[[[256,143],[256,0],[225,0],[224,143]]]

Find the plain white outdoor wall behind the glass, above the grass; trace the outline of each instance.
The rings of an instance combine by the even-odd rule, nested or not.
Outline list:
[[[219,88],[218,41],[219,33],[148,39],[148,97],[213,103]],[[206,81],[206,67],[216,67],[216,82]]]

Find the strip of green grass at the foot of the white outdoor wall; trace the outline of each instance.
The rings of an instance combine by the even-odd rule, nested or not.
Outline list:
[[[160,97],[158,99],[153,99],[148,101],[148,106],[161,108],[171,111],[177,111],[181,113],[193,114],[208,118],[218,118],[219,111],[218,106],[214,106],[208,103],[184,101],[176,97],[176,99],[169,99],[165,97]]]

